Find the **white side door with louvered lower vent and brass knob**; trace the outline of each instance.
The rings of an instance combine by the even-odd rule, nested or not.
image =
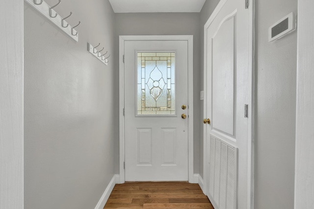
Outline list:
[[[246,209],[250,188],[250,12],[223,0],[206,30],[207,194],[217,209]]]

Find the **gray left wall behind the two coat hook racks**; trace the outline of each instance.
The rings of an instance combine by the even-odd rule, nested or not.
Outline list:
[[[54,5],[55,0],[46,0]],[[87,52],[114,52],[108,0],[64,0],[74,42],[25,3],[25,209],[93,209],[114,175],[114,68]]]

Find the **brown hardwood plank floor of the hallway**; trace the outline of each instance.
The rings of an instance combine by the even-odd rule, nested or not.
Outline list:
[[[198,184],[127,182],[116,184],[104,209],[213,209]]]

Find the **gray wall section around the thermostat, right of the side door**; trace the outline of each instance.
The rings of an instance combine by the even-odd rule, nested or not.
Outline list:
[[[255,209],[292,209],[297,33],[268,42],[268,27],[297,0],[256,1]]]

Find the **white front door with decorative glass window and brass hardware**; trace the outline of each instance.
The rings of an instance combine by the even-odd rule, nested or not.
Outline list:
[[[124,42],[126,181],[188,180],[187,52],[187,41]]]

